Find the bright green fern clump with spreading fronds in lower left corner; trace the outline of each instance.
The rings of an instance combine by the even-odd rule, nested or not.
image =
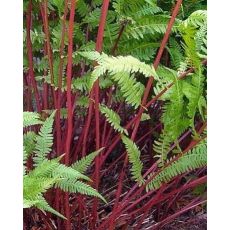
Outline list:
[[[37,113],[24,112],[23,125],[29,127],[42,124],[38,134],[27,132],[24,134],[24,176],[23,176],[23,202],[24,208],[32,206],[51,212],[61,218],[62,214],[53,209],[45,200],[43,194],[50,188],[60,188],[65,192],[81,193],[105,199],[85,182],[90,179],[83,175],[100,150],[87,155],[87,157],[75,162],[71,166],[60,163],[61,158],[49,160],[48,154],[53,145],[52,126],[55,111],[44,121],[40,120]],[[32,156],[34,168],[26,169],[27,159]]]

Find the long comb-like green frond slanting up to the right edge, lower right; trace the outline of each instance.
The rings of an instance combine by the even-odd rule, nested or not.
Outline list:
[[[146,190],[149,191],[158,189],[162,184],[170,182],[174,177],[206,165],[207,146],[206,142],[202,142],[190,150],[187,154],[163,168],[161,172],[157,174],[152,181],[150,181]],[[152,176],[153,174],[150,174],[148,178]]]

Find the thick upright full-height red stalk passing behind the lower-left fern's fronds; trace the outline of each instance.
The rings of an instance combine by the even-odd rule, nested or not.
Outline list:
[[[68,165],[70,161],[70,144],[72,139],[72,100],[71,100],[71,81],[72,81],[72,53],[73,53],[73,28],[74,28],[74,15],[75,15],[76,0],[71,0],[70,19],[69,19],[69,31],[68,31],[68,64],[67,64],[67,111],[68,111],[68,128],[66,137],[66,148],[65,148],[65,164]],[[66,230],[71,229],[70,223],[70,207],[69,207],[69,194],[65,194],[65,215]]]

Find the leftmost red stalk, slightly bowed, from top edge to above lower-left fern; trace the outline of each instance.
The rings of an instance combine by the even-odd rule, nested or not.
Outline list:
[[[26,43],[27,43],[26,45],[27,45],[27,55],[29,61],[29,75],[34,89],[37,110],[40,113],[41,105],[39,102],[39,93],[38,93],[37,83],[33,71],[33,51],[32,51],[31,37],[30,37],[31,20],[32,20],[32,1],[30,0],[28,4],[27,15],[26,15]]]

